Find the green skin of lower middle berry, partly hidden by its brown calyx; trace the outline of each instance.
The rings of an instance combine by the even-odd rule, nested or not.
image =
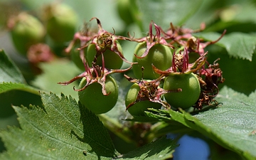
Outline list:
[[[129,91],[127,92],[126,98],[125,98],[125,105],[128,106],[132,102],[135,102],[137,100],[137,95],[140,88],[137,83],[134,83]],[[134,105],[130,106],[127,110],[130,114],[133,116],[144,116],[144,111],[147,110],[147,108],[155,108],[160,109],[161,104],[156,102],[150,102],[149,100],[144,100],[135,103]]]

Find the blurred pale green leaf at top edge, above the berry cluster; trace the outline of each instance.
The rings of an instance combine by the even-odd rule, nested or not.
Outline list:
[[[164,29],[170,27],[170,23],[181,26],[188,18],[193,16],[202,4],[202,0],[141,0],[137,1],[139,16],[142,21],[143,31],[149,31],[149,23],[154,21]],[[138,15],[137,15],[138,16]]]

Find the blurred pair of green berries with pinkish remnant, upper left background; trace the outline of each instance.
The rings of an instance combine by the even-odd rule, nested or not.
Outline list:
[[[53,3],[44,6],[38,14],[22,11],[10,16],[7,27],[17,52],[37,64],[64,53],[66,43],[77,30],[77,24],[78,15],[70,6]]]

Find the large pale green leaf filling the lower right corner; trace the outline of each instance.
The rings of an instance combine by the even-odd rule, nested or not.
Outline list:
[[[255,92],[247,97],[223,87],[216,98],[223,105],[217,109],[200,112],[194,116],[188,112],[174,110],[169,110],[169,114],[174,121],[201,132],[246,159],[256,159],[255,96]]]

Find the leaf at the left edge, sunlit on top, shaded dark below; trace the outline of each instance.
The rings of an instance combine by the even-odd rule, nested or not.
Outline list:
[[[0,129],[10,124],[18,124],[11,105],[41,106],[41,99],[36,88],[26,85],[21,71],[0,50]]]

